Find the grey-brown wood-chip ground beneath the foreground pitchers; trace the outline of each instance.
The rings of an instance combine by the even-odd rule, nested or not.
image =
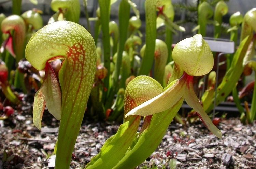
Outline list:
[[[31,105],[23,105],[0,120],[0,169],[46,169],[55,162],[54,145],[59,122],[44,113],[42,129],[33,125]],[[119,124],[83,122],[70,168],[84,168]],[[157,150],[137,168],[256,168],[256,123],[243,125],[238,118],[223,119],[218,139],[199,121],[182,126],[172,123]]]

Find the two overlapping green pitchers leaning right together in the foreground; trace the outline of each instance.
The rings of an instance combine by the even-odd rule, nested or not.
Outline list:
[[[213,67],[208,44],[197,34],[177,43],[172,57],[176,67],[180,67],[175,70],[184,70],[183,75],[173,77],[176,80],[165,89],[151,77],[134,78],[125,91],[124,124],[105,142],[87,168],[134,168],[142,163],[160,144],[184,99],[198,112],[207,128],[221,138],[221,131],[212,124],[193,89],[193,76],[207,74]],[[145,116],[144,124],[136,134],[141,116]]]

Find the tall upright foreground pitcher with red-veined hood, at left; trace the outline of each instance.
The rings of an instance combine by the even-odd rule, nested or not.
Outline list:
[[[25,54],[34,68],[45,70],[44,81],[34,98],[34,124],[41,128],[45,106],[60,120],[55,169],[69,168],[95,76],[94,40],[81,25],[58,21],[36,32]],[[59,80],[48,63],[56,59],[64,59]]]

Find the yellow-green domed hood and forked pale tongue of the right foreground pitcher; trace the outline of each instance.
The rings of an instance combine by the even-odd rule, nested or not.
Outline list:
[[[193,76],[202,76],[213,68],[213,55],[202,35],[197,34],[177,43],[172,52],[172,58],[184,73],[181,78],[167,86],[167,90],[140,106],[132,109],[130,115],[148,116],[171,108],[182,97],[194,108],[208,129],[221,138],[221,132],[212,124],[210,118],[200,105],[193,89]]]

